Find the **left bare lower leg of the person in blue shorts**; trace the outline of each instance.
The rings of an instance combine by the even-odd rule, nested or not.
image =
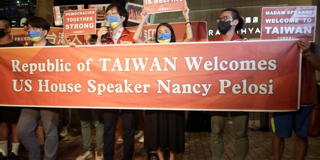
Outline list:
[[[274,160],[281,159],[283,149],[284,149],[284,138],[274,133],[273,139],[272,139],[272,153],[273,153]]]

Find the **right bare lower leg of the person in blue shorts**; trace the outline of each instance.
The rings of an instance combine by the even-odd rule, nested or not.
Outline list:
[[[306,150],[308,148],[308,141],[306,137],[300,137],[295,135],[294,140],[294,159],[304,159]]]

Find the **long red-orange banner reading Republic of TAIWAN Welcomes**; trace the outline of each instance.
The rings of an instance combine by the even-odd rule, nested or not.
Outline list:
[[[300,58],[296,40],[0,48],[0,105],[295,110]]]

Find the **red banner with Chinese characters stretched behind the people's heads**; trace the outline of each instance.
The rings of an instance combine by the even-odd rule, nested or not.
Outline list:
[[[184,22],[177,22],[177,23],[170,23],[170,24],[173,30],[176,30],[174,32],[176,41],[183,41],[183,39],[186,36]],[[155,35],[155,29],[157,25],[158,24],[144,25],[142,34],[141,34],[141,39],[144,40],[145,42],[153,42],[155,39],[154,35]],[[192,41],[207,41],[207,33],[205,31],[206,22],[192,21],[191,25],[192,25],[192,34],[193,34]],[[126,28],[134,32],[136,27],[137,26],[130,26]],[[98,29],[96,31],[98,31]],[[11,36],[13,40],[20,42],[24,46],[27,46],[31,42],[31,40],[29,39],[28,35],[26,34],[25,30],[23,30],[23,28],[12,28]],[[51,27],[48,35],[46,36],[46,39],[48,39],[51,43],[55,45],[66,44],[65,40],[63,39],[63,28],[60,28],[60,27]],[[80,45],[83,44],[84,42],[83,35],[70,35],[70,39],[72,42],[75,42],[76,44],[80,44]]]

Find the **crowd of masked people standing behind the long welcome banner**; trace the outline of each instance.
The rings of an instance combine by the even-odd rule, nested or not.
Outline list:
[[[185,5],[182,10],[185,21],[186,37],[183,40],[192,40],[191,23],[189,20],[189,8]],[[86,44],[119,44],[119,43],[143,43],[140,39],[142,27],[147,20],[147,12],[140,12],[141,21],[135,32],[127,30],[126,22],[128,12],[124,6],[112,3],[106,8],[107,19],[110,20],[110,28],[101,27],[97,35],[86,34]],[[220,35],[211,41],[248,40],[241,37],[236,31],[242,28],[244,23],[239,12],[234,8],[226,8],[216,19]],[[10,38],[11,20],[0,17],[0,47],[23,46]],[[46,40],[49,32],[49,23],[41,17],[31,17],[26,21],[25,27],[32,42],[28,46],[54,45]],[[101,36],[106,34],[105,41],[101,42]],[[69,46],[75,43],[69,40],[68,35],[64,39]],[[169,23],[163,22],[156,27],[155,42],[175,42],[174,30]],[[302,50],[301,62],[301,100],[300,109],[290,112],[277,112],[274,114],[272,128],[274,136],[272,151],[274,159],[280,159],[284,138],[290,137],[292,130],[296,134],[294,143],[294,156],[303,159],[307,150],[307,125],[312,108],[309,83],[309,67],[320,70],[320,55],[314,51],[312,43],[299,39],[297,45]],[[66,120],[58,133],[58,108],[46,107],[12,107],[0,106],[0,159],[16,159],[20,142],[28,151],[29,159],[55,159],[58,148],[58,136],[65,136],[69,127],[70,109],[63,110],[63,118]],[[184,151],[185,114],[179,110],[134,110],[134,109],[78,109],[83,141],[83,151],[75,159],[87,159],[93,156],[95,159],[114,159],[114,144],[123,141],[122,159],[132,159],[134,140],[142,137],[144,147],[156,150],[158,158],[164,159],[164,151],[169,150],[169,159],[174,159],[177,153]],[[247,111],[210,111],[211,139],[210,149],[212,159],[223,159],[224,146],[222,133],[226,119],[230,114],[235,134],[235,159],[246,159],[248,154],[248,112]],[[141,131],[134,135],[135,120],[138,121]],[[65,116],[65,117],[64,117]],[[142,117],[142,119],[141,119]],[[144,118],[143,118],[144,117]],[[121,119],[119,122],[118,119]],[[96,130],[96,146],[91,146],[91,120]],[[39,142],[36,136],[36,128],[41,122],[44,132],[44,157],[40,156]],[[121,126],[121,139],[115,140],[116,125]],[[9,129],[10,128],[10,129]],[[123,130],[123,131],[122,131]],[[11,134],[9,134],[11,133]],[[123,135],[122,135],[123,134]],[[11,137],[11,152],[8,152],[8,141]]]

